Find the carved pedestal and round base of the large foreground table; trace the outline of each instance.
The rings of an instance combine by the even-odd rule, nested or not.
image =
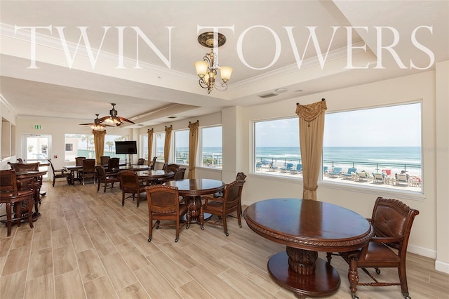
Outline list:
[[[330,295],[340,286],[340,275],[315,251],[287,246],[268,260],[274,281],[295,292],[297,298]]]

